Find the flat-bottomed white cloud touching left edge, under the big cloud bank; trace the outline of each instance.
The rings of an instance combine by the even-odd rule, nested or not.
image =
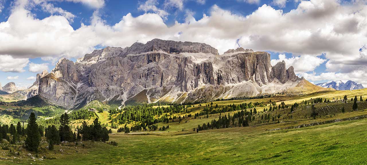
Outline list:
[[[13,58],[11,55],[0,55],[0,71],[3,72],[24,72],[23,68],[28,63],[28,58]]]

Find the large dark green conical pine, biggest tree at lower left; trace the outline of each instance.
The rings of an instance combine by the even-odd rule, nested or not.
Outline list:
[[[34,113],[30,113],[26,129],[27,138],[25,140],[26,149],[29,151],[38,151],[41,142],[41,135],[38,131],[38,124]]]

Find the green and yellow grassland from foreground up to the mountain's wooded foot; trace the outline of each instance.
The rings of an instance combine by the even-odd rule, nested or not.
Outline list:
[[[340,100],[347,95],[348,101]],[[300,96],[274,96],[264,99],[213,101],[219,107],[229,104],[264,102],[265,105],[282,101],[290,105],[295,102],[322,97],[331,103],[317,103],[316,119],[311,116],[311,105],[300,104],[293,112],[289,108],[275,111],[256,107],[258,114],[249,127],[221,128],[193,131],[198,125],[210,123],[219,115],[233,115],[236,111],[210,114],[197,118],[185,118],[178,122],[158,123],[159,127],[169,125],[165,131],[139,131],[130,134],[110,134],[110,141],[118,146],[102,142],[66,143],[47,150],[43,139],[39,158],[32,159],[19,145],[10,145],[13,152],[0,149],[0,164],[367,164],[367,102],[358,102],[358,111],[352,110],[350,98],[367,98],[367,89],[355,91],[326,91]],[[97,104],[97,103],[95,103]],[[195,104],[189,113],[203,110],[206,104]],[[167,105],[164,105],[167,106]],[[155,106],[156,107],[156,106]],[[341,108],[345,107],[345,113]],[[240,110],[241,111],[241,110]],[[184,112],[173,114],[185,115]],[[278,116],[275,121],[265,122],[262,115]],[[109,123],[109,112],[94,112],[94,117],[86,119],[91,124],[98,118],[101,124]],[[113,115],[114,117],[115,115]],[[2,116],[2,120],[14,120]],[[356,120],[357,119],[357,120]],[[74,127],[83,120],[73,120]],[[129,124],[129,126],[131,126]],[[121,125],[119,126],[121,127]],[[182,129],[184,131],[182,131]],[[1,143],[0,143],[1,144]],[[82,146],[84,144],[84,146]],[[3,144],[2,144],[3,145]],[[18,156],[15,152],[20,152]],[[35,156],[36,153],[31,153]],[[36,160],[36,161],[34,161]]]

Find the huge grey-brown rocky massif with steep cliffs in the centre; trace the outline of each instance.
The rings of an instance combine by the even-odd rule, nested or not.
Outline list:
[[[160,39],[106,47],[75,63],[60,59],[40,78],[39,95],[66,108],[92,100],[183,103],[280,92],[301,80],[284,61],[271,66],[269,53],[227,52],[219,55],[205,43]]]

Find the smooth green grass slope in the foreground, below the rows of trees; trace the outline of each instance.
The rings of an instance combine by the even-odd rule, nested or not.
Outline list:
[[[367,115],[367,111],[341,115]],[[110,135],[110,141],[116,141],[118,146],[83,142],[85,147],[69,146],[63,154],[58,148],[61,146],[47,151],[47,157],[55,159],[34,162],[11,156],[0,160],[0,164],[367,164],[366,118],[268,131],[288,125],[278,123],[199,133],[115,133]],[[6,153],[1,155],[4,157]]]

